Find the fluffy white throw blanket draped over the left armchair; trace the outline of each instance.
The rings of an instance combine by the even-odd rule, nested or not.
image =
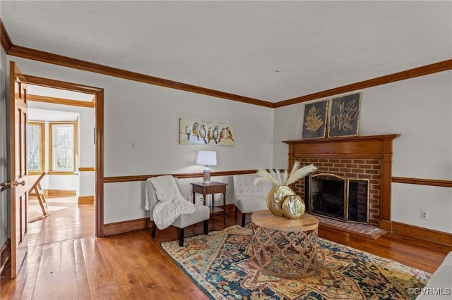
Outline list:
[[[171,225],[179,215],[189,215],[196,211],[195,205],[186,201],[179,192],[179,187],[170,175],[150,178],[158,203],[153,210],[154,223],[158,229],[165,229]]]

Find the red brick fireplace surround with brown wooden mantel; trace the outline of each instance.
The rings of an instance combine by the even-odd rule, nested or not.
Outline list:
[[[369,180],[369,224],[391,228],[392,144],[399,135],[328,137],[284,141],[289,145],[289,166],[314,164],[317,173]],[[292,186],[305,195],[305,179]]]

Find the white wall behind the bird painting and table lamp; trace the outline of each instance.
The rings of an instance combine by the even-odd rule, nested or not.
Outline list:
[[[202,173],[196,165],[199,150],[217,151],[213,172],[271,168],[273,165],[273,109],[176,89],[122,80],[57,65],[8,56],[24,74],[75,82],[105,89],[105,177],[168,173]],[[232,123],[235,146],[179,144],[179,118]],[[136,144],[131,149],[130,142]],[[230,182],[229,177],[213,180]],[[184,180],[182,189],[189,191]],[[143,182],[104,185],[105,223],[148,216]],[[231,191],[231,192],[230,192]],[[185,192],[185,194],[186,194]],[[184,194],[184,196],[185,196]],[[220,199],[220,198],[219,198]],[[233,203],[232,182],[227,204]]]

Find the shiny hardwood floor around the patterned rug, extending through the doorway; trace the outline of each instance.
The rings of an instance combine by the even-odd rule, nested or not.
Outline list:
[[[73,214],[81,224],[83,218],[94,218],[94,209],[77,206]],[[16,280],[2,280],[0,299],[208,299],[160,249],[159,242],[177,239],[174,227],[157,230],[154,239],[150,230],[96,238],[94,223],[92,229],[71,227],[65,218],[69,215],[61,218],[55,211],[42,225],[30,224],[33,245]],[[240,219],[240,214],[235,220],[234,213],[227,213],[226,226]],[[222,228],[222,215],[210,220],[210,231]],[[186,236],[202,233],[202,223],[186,228]],[[411,237],[388,234],[374,240],[322,225],[319,237],[429,273],[452,251]]]

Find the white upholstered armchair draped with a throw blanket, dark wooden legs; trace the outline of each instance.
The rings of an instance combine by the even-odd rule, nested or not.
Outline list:
[[[168,176],[167,176],[168,177]],[[175,184],[172,185],[174,187],[174,191],[169,191],[169,194],[174,193],[175,195],[182,197],[179,189],[179,181],[177,178],[174,178]],[[145,209],[150,212],[150,220],[153,221],[153,227],[151,230],[151,237],[155,237],[155,230],[157,229],[157,225],[155,224],[155,218],[153,216],[153,212],[155,206],[159,203],[160,195],[157,196],[155,192],[155,187],[153,182],[151,182],[151,178],[146,181],[146,206]],[[186,199],[184,199],[187,201]],[[191,205],[191,202],[190,202]],[[194,205],[194,208],[191,208],[193,211],[189,214],[181,214],[177,218],[174,219],[174,222],[171,223],[171,226],[179,228],[179,246],[184,246],[184,228],[190,225],[194,225],[203,221],[204,223],[204,235],[208,234],[208,220],[210,217],[210,210],[208,206],[204,205]]]

